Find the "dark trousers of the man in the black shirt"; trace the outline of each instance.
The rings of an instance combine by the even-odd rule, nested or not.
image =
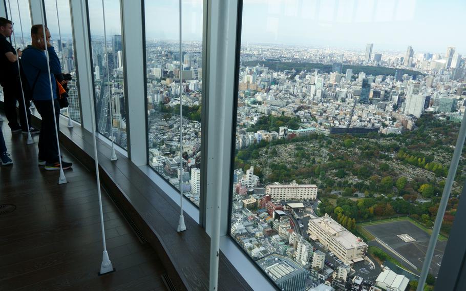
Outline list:
[[[12,80],[10,82],[6,82],[3,86],[3,95],[5,97],[5,115],[8,119],[8,126],[11,129],[18,129],[21,128],[23,131],[28,131],[28,126],[26,123],[26,116],[28,118],[29,126],[31,126],[31,112],[29,111],[29,107],[31,106],[31,102],[26,100],[26,113],[24,111],[24,102],[23,102],[23,94],[21,92],[21,85],[19,80]],[[16,100],[19,102],[19,123],[18,124],[18,117],[16,115]]]

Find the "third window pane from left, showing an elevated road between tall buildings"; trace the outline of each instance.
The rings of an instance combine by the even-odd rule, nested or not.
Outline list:
[[[88,1],[96,126],[99,133],[127,149],[120,2],[105,0],[104,5],[105,15],[100,0]],[[106,43],[103,16],[105,16]]]

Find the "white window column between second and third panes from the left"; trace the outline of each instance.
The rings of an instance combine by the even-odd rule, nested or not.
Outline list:
[[[73,30],[74,55],[76,57],[76,76],[81,109],[81,126],[92,132],[92,112],[90,102],[93,100],[94,88],[92,82],[91,59],[86,55],[90,52],[87,15],[81,12],[82,0],[70,0],[71,23]],[[84,20],[83,20],[84,19]]]

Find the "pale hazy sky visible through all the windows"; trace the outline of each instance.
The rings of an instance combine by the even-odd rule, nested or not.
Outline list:
[[[18,23],[17,4],[10,0]],[[7,0],[7,7],[8,7]],[[57,0],[62,35],[71,34],[69,0]],[[29,31],[28,0],[19,0],[23,29]],[[57,34],[55,0],[45,0],[48,26]],[[120,1],[104,0],[107,34],[121,34]],[[202,40],[202,0],[182,0],[183,41]],[[177,0],[146,0],[148,39],[179,39]],[[89,0],[91,34],[103,35],[101,0]],[[466,0],[244,0],[242,44],[267,43],[365,50],[466,55]],[[15,30],[19,32],[19,27]]]

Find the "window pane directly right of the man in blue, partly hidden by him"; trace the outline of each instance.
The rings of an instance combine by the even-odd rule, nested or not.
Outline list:
[[[60,113],[65,116],[68,116],[69,114],[71,119],[81,122],[74,58],[73,30],[71,27],[70,2],[68,0],[59,0],[57,1],[57,5],[58,17],[55,0],[45,0],[47,26],[52,36],[52,44],[55,47],[58,58],[60,59],[61,71],[63,74],[71,75],[71,80],[68,81],[69,107],[61,109]]]

